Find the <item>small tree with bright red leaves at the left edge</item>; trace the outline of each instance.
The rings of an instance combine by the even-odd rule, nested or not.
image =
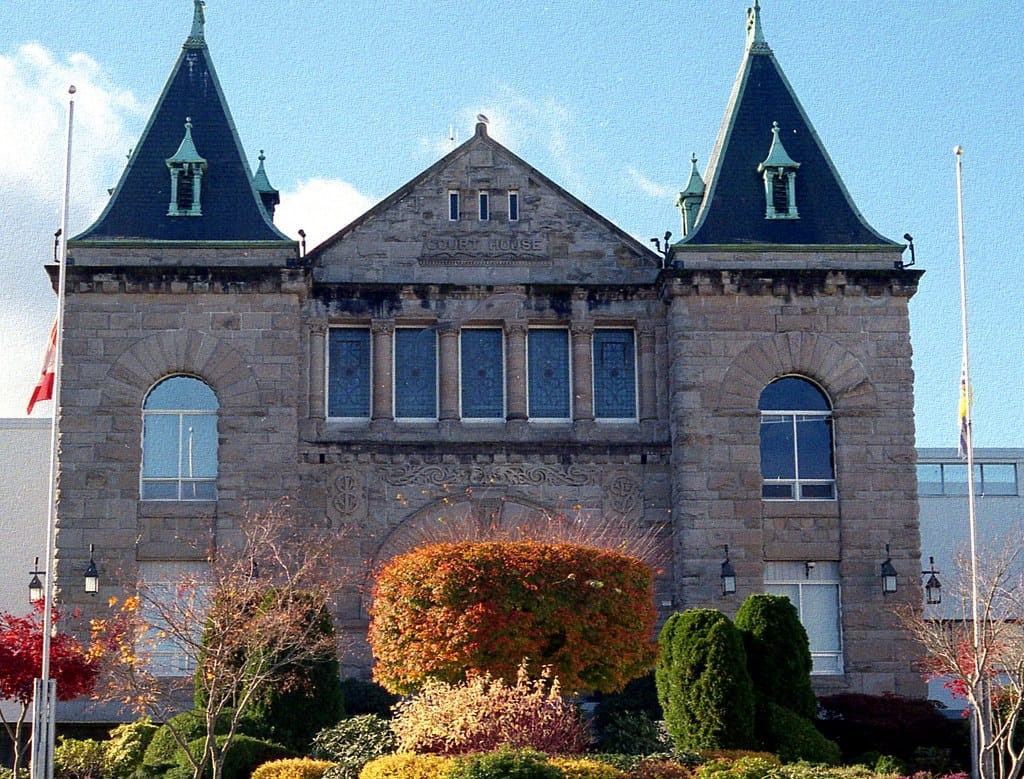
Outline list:
[[[52,617],[56,624],[59,618],[56,609],[52,609]],[[17,776],[25,752],[22,726],[32,705],[33,685],[42,672],[42,602],[25,616],[0,612],[0,699],[14,701],[20,706],[13,722],[9,722],[0,709],[0,720],[13,744],[13,776]],[[74,636],[56,633],[50,637],[50,677],[56,681],[59,700],[88,695],[98,675],[98,659]]]

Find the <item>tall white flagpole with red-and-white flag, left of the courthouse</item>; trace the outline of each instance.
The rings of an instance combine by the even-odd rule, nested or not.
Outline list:
[[[71,139],[75,123],[75,86],[68,87],[68,146],[65,157],[65,188],[60,207],[60,255],[57,266],[57,335],[53,355],[53,419],[50,423],[50,484],[46,520],[46,575],[43,585],[42,667],[33,701],[32,779],[53,779],[53,738],[56,715],[56,682],[50,678],[50,622],[56,578],[56,481],[57,415],[60,410],[60,373],[63,354],[65,291],[68,268],[68,204],[71,200]]]

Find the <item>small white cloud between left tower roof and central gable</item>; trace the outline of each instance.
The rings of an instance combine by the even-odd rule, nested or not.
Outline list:
[[[306,231],[306,248],[323,244],[353,219],[361,216],[376,200],[351,184],[337,179],[310,178],[295,189],[282,190],[281,205],[273,215],[278,229],[299,240]]]

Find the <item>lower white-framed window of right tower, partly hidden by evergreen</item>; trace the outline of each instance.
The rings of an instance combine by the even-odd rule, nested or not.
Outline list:
[[[811,647],[811,674],[843,673],[839,563],[766,562],[765,592],[784,595],[797,607]]]

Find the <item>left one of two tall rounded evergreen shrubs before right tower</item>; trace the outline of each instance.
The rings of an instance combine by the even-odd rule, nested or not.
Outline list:
[[[715,609],[673,614],[658,638],[658,700],[679,749],[755,746],[754,686],[743,640]]]

